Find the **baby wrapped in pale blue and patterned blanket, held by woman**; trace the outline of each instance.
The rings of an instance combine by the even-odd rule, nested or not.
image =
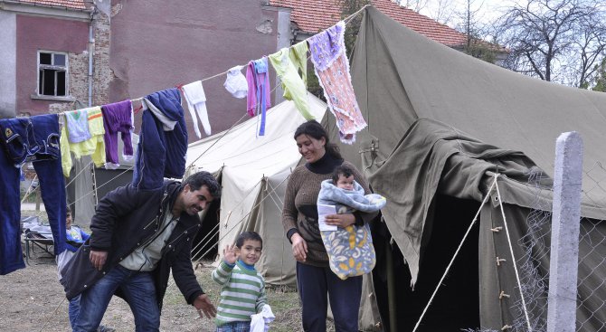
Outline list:
[[[332,179],[322,181],[317,205],[334,205],[336,213],[375,212],[387,201],[380,194],[364,194],[348,166],[337,166]],[[330,270],[342,280],[370,272],[374,268],[373,238],[368,224],[349,225],[336,231],[320,231],[327,248]]]

